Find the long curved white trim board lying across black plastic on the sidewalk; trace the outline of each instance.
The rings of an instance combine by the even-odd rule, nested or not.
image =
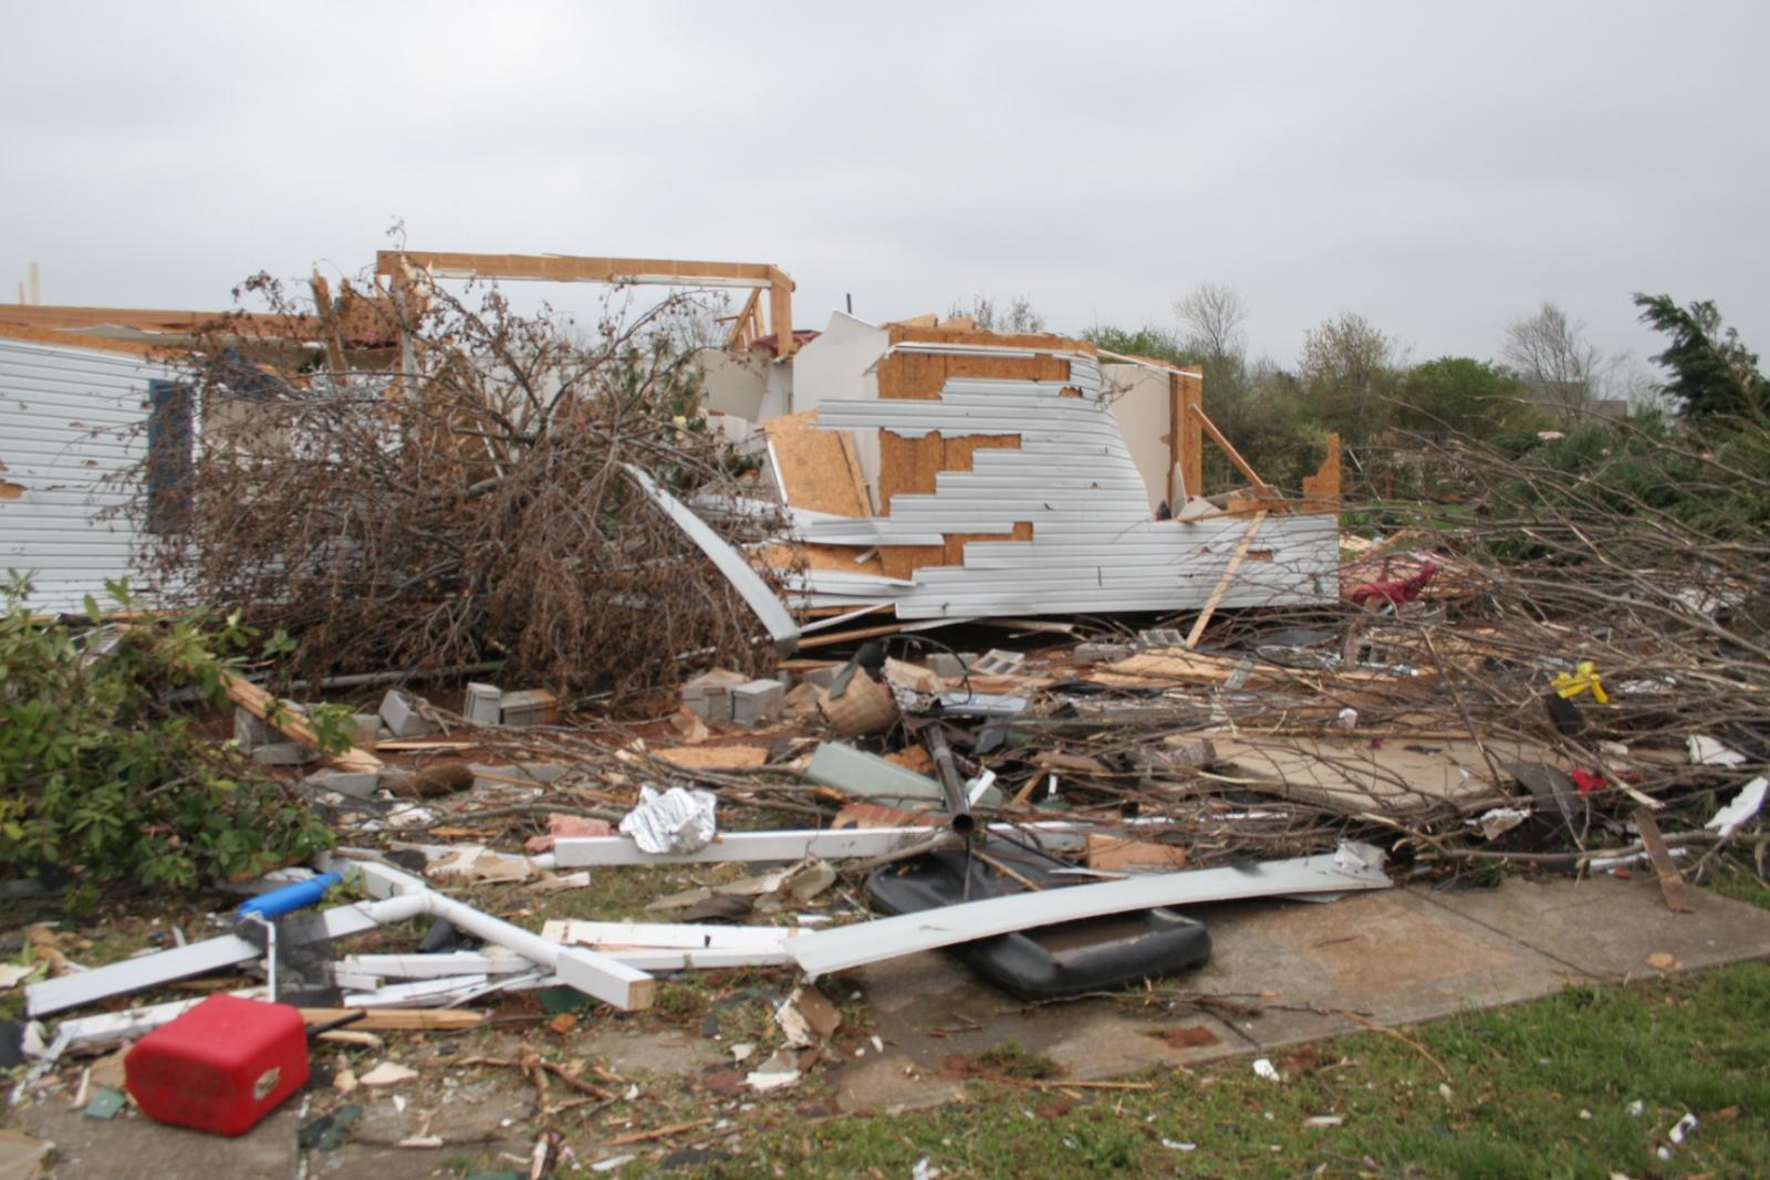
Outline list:
[[[789,941],[788,954],[807,978],[846,971],[869,962],[940,950],[979,938],[1030,931],[1058,922],[1101,918],[1156,906],[1200,906],[1205,902],[1280,897],[1289,893],[1351,893],[1388,888],[1382,853],[1365,844],[1342,844],[1338,853],[1274,860],[1250,869],[1195,869],[1127,877],[1103,885],[1074,885],[1041,893],[1016,893],[988,900],[942,906],[876,918],[834,931],[818,931]]]

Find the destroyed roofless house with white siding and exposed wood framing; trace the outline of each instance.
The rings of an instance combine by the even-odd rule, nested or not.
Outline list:
[[[754,497],[784,510],[786,531],[743,559],[779,579],[786,605],[816,619],[807,626],[867,614],[1209,616],[1338,594],[1336,446],[1303,499],[1287,501],[1211,423],[1198,370],[935,317],[880,326],[834,313],[823,333],[784,331],[793,285],[768,264],[384,251],[384,288],[366,299],[345,290],[333,303],[315,276],[320,315],[237,317],[242,372],[266,349],[281,372],[294,372],[290,350],[335,373],[411,363],[388,336],[398,317],[370,304],[412,297],[418,272],[747,288],[726,347],[697,359],[710,421],[765,462],[754,492],[692,508],[743,513]],[[0,563],[34,571],[34,609],[103,596],[149,540],[138,527],[175,527],[177,472],[216,418],[250,414],[193,405],[165,359],[202,318],[0,315]],[[1205,437],[1250,492],[1202,495]],[[126,472],[143,456],[165,487],[149,488],[138,522],[124,511],[138,492]]]

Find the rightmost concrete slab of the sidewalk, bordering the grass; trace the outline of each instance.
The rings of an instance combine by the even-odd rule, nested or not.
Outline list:
[[[1655,975],[1648,959],[1662,954],[1683,971],[1770,957],[1770,911],[1708,890],[1685,892],[1696,913],[1666,909],[1646,872],[1628,881],[1513,877],[1497,890],[1416,895],[1595,980]]]

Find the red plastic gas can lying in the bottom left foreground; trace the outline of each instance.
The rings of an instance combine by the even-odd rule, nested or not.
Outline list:
[[[211,996],[122,1060],[149,1118],[218,1136],[251,1130],[308,1081],[308,1030],[287,1003]]]

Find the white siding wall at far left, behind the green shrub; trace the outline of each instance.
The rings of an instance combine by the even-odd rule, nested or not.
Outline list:
[[[106,478],[145,455],[147,382],[175,377],[133,356],[0,340],[0,479],[23,488],[0,497],[0,571],[32,575],[34,612],[81,610],[87,594],[104,605],[104,579],[129,573],[131,488]]]

